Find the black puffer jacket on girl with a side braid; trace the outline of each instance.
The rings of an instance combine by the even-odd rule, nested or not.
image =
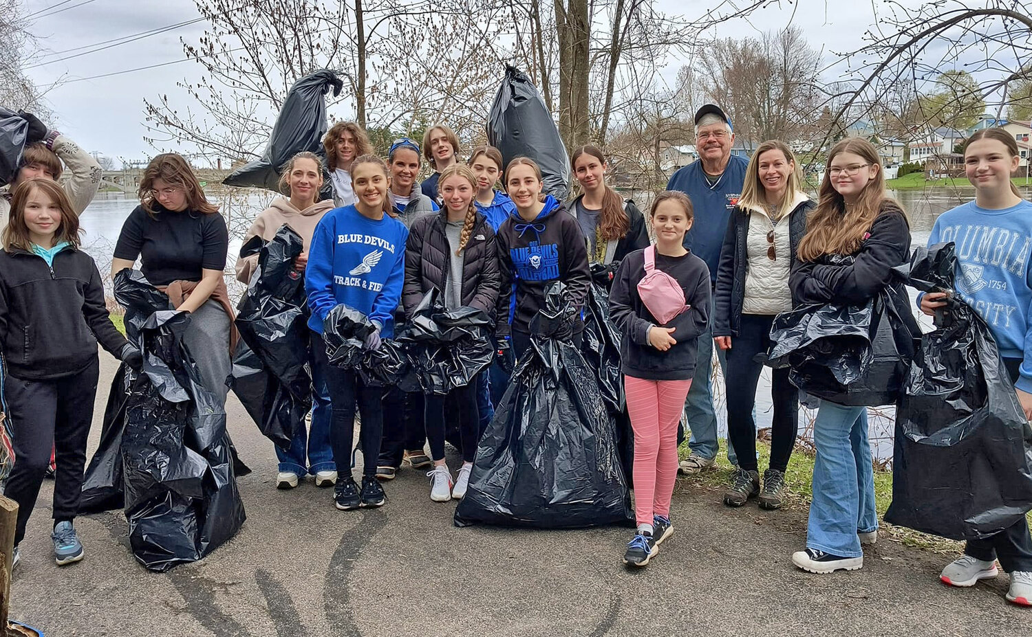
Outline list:
[[[445,289],[451,252],[445,234],[447,214],[447,210],[442,210],[439,214],[421,216],[409,229],[401,304],[410,318],[430,288]],[[477,212],[470,241],[462,250],[462,305],[482,309],[493,320],[499,281],[494,231],[484,215]]]

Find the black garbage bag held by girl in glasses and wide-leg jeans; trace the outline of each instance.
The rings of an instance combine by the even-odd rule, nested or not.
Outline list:
[[[778,314],[767,362],[792,367],[788,379],[810,396],[840,405],[892,405],[899,397],[916,336],[886,287],[865,305],[808,305]]]

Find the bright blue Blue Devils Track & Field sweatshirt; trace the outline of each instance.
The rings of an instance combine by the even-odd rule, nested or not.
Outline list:
[[[326,314],[343,303],[379,323],[383,338],[393,337],[408,239],[409,229],[389,214],[374,221],[354,205],[327,212],[312,235],[304,268],[309,327],[322,334]]]

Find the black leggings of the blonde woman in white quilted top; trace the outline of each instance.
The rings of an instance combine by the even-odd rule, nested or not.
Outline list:
[[[738,466],[757,471],[756,424],[752,408],[756,402],[756,383],[763,363],[754,358],[771,346],[770,332],[774,316],[742,314],[739,335],[731,339],[724,374],[728,397],[728,437],[738,456]],[[772,370],[771,399],[774,418],[771,426],[770,468],[784,471],[796,446],[799,432],[799,390],[788,382],[788,368]]]

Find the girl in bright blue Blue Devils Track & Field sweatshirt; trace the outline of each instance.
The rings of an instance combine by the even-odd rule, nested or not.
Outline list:
[[[385,496],[377,481],[376,461],[383,435],[381,389],[366,387],[352,370],[333,367],[322,340],[323,321],[334,306],[348,305],[363,312],[378,330],[365,347],[378,349],[381,338],[394,335],[394,310],[401,298],[405,278],[405,245],[409,230],[386,213],[387,166],[377,157],[364,155],[351,166],[351,179],[358,201],[330,210],[316,226],[304,270],[312,317],[309,327],[317,365],[324,366],[329,385],[332,417],[330,441],[337,480],[336,507],[350,510],[381,506]],[[354,438],[355,402],[362,418],[362,489],[351,477],[351,446]]]

